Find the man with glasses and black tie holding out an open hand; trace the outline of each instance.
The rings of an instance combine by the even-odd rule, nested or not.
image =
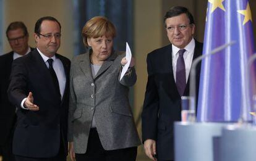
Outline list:
[[[13,153],[21,160],[66,160],[70,60],[56,52],[61,25],[35,24],[36,49],[12,63],[9,100],[17,107]]]

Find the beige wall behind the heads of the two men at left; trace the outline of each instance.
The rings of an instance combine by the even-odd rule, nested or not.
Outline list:
[[[59,20],[62,26],[61,47],[59,53],[63,56],[72,58],[73,47],[73,18],[72,18],[72,1],[70,0],[4,0],[4,35],[3,50],[4,53],[11,51],[9,43],[6,39],[5,30],[9,23],[14,21],[22,21],[28,28],[30,34],[29,44],[35,47],[33,38],[36,20],[44,16],[53,16]]]

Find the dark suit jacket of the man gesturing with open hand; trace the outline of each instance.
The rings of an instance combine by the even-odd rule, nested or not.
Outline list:
[[[56,54],[66,73],[66,88],[62,99],[54,87],[53,78],[37,49],[12,63],[9,100],[18,107],[13,153],[23,157],[54,157],[60,142],[67,154],[67,111],[69,104],[70,60]],[[20,107],[22,100],[33,93],[38,111]],[[63,152],[64,153],[64,152]]]

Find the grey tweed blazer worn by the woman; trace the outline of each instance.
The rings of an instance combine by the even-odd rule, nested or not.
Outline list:
[[[125,55],[114,51],[93,78],[90,53],[76,56],[71,62],[68,140],[74,141],[75,153],[84,154],[94,115],[105,150],[139,146],[128,99],[129,86],[137,79],[135,68],[119,81]]]

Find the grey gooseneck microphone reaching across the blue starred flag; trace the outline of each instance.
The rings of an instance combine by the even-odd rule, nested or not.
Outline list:
[[[194,110],[195,111],[195,101],[197,100],[197,94],[196,94],[196,67],[198,62],[200,62],[202,59],[205,59],[205,57],[211,56],[213,54],[216,54],[216,52],[219,52],[223,49],[225,49],[228,46],[231,46],[233,44],[235,44],[236,41],[231,41],[229,43],[223,44],[219,47],[216,47],[215,49],[213,49],[212,51],[208,52],[207,54],[203,54],[202,56],[197,57],[191,65],[191,70],[190,70],[190,86],[189,86],[189,95],[190,95],[190,109],[189,110]]]

